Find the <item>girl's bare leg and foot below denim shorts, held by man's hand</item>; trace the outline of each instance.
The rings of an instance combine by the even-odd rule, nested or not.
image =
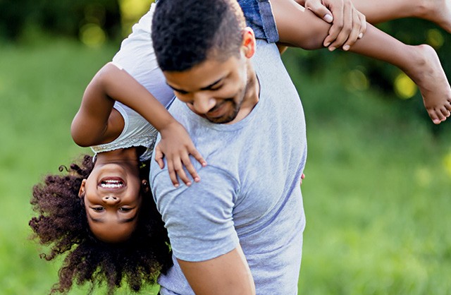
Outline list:
[[[303,49],[323,48],[330,24],[295,1],[273,0],[272,4],[280,42]],[[424,106],[435,124],[450,116],[450,84],[432,47],[406,45],[368,25],[364,37],[350,51],[386,61],[404,71],[418,85]]]

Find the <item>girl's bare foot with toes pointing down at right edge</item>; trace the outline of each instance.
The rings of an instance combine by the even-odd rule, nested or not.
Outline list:
[[[448,1],[449,2],[449,1]],[[418,85],[424,107],[434,124],[440,124],[451,114],[451,88],[437,53],[429,45],[414,46],[412,70],[405,71]]]

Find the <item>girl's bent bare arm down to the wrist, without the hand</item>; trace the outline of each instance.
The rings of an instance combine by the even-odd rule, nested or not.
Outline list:
[[[170,124],[177,124],[166,108],[140,83],[109,63],[100,69],[85,90],[70,127],[75,143],[83,147],[99,145],[121,133],[123,121],[118,122],[117,116],[120,115],[111,112],[115,100],[135,109],[159,131]]]

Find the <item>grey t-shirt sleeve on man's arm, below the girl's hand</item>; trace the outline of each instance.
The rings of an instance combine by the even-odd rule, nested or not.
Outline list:
[[[175,188],[166,169],[151,183],[175,257],[192,262],[216,258],[239,244],[233,227],[237,181],[212,166],[197,171],[202,181],[189,187],[180,182]]]

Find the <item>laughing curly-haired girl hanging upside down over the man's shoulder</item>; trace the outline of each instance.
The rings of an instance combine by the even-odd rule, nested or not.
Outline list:
[[[302,6],[293,1],[273,0],[272,11],[275,18],[272,16],[271,6],[265,6],[264,4],[269,4],[268,1],[259,1],[258,3],[257,1],[241,2],[243,2],[242,7],[248,19],[250,19],[249,16],[254,11],[252,27],[257,33],[257,37],[266,39],[268,37],[265,35],[266,32],[268,32],[268,35],[271,35],[271,32],[276,32],[280,36],[279,42],[282,44],[314,49],[320,48],[324,38],[328,35],[330,25],[316,18],[309,11],[305,11]],[[247,2],[250,6],[246,8],[244,2]],[[368,1],[360,0],[360,2],[370,5],[367,3]],[[401,3],[402,1],[398,2]],[[411,3],[402,5],[406,6],[404,11],[408,11],[407,6],[411,6]],[[395,6],[389,7],[393,8]],[[267,10],[268,8],[269,11]],[[121,51],[113,58],[113,62],[104,66],[89,84],[85,97],[92,97],[92,100],[85,100],[84,97],[80,112],[73,122],[72,134],[75,142],[78,144],[85,146],[114,142],[127,129],[128,123],[124,114],[127,112],[129,114],[134,113],[131,109],[125,109],[123,105],[117,102],[114,104],[113,100],[127,104],[141,114],[146,121],[155,124],[156,128],[163,131],[161,133],[163,139],[168,139],[169,141],[173,138],[174,141],[178,139],[177,134],[183,134],[183,130],[176,127],[177,124],[173,128],[174,131],[165,132],[165,127],[167,128],[171,125],[167,123],[171,121],[171,118],[168,119],[166,116],[164,107],[158,107],[150,102],[156,98],[161,104],[168,107],[173,97],[172,90],[164,83],[162,74],[156,67],[154,60],[150,37],[153,9],[154,5],[152,5],[149,13],[143,16],[140,22],[134,26],[132,34],[124,40]],[[369,11],[363,12],[371,20],[373,16],[379,14],[378,10],[381,10],[381,8],[376,6],[369,8]],[[395,18],[398,16],[395,12],[388,11],[386,13],[390,18]],[[412,16],[414,15],[412,14]],[[431,18],[437,23],[443,23],[433,18],[433,15],[424,15],[424,18]],[[265,21],[261,21],[261,19]],[[274,20],[276,20],[278,30],[276,30]],[[269,27],[265,25],[269,25]],[[264,34],[259,35],[259,32]],[[359,30],[359,32],[363,31]],[[386,48],[374,47],[374,44],[381,44],[378,42],[388,42],[390,52],[387,52]],[[330,42],[330,46],[332,44],[335,43]],[[338,47],[338,45],[336,46]],[[407,52],[403,52],[402,50],[404,49],[407,49]],[[430,47],[408,47],[369,26],[361,40],[357,41],[350,50],[400,66],[419,84],[425,103],[431,102],[433,105],[438,105],[438,111],[433,109],[432,112],[432,115],[436,116],[435,122],[437,120],[438,122],[443,121],[446,116],[449,116],[451,108],[449,85],[440,64],[438,63],[437,65],[438,59],[435,52],[431,52]],[[430,56],[435,64],[431,66],[430,64],[420,63],[420,67],[416,68],[416,65],[410,64],[414,60],[411,56],[420,60]],[[421,76],[423,73],[430,73],[431,76],[427,76],[426,79]],[[438,82],[434,78],[438,78]],[[144,85],[144,88],[153,95],[145,91],[140,84]],[[435,97],[438,97],[438,102],[435,102]],[[98,104],[97,102],[101,103]],[[114,109],[113,105],[115,105]],[[121,111],[121,107],[126,111]],[[151,109],[158,109],[158,114],[156,116],[151,114],[149,111]],[[101,115],[92,115],[93,112],[100,112]],[[440,112],[441,116],[436,114],[437,112]],[[433,117],[432,115],[431,118]],[[101,124],[98,124],[98,122],[101,122]],[[145,126],[148,123],[142,121],[140,124]],[[84,134],[86,132],[95,136],[85,138]],[[122,139],[120,139],[127,141],[128,138],[133,137],[133,132],[128,134],[129,136],[121,137]],[[102,139],[98,140],[98,138]],[[166,156],[166,163],[172,165],[176,171],[183,171],[181,168],[182,164],[185,164],[188,168],[190,165],[189,158],[185,157],[185,160],[183,160],[183,156],[173,157],[173,155],[180,155],[181,153],[184,153],[184,155],[194,153],[195,155],[193,150],[185,148],[187,145],[190,145],[189,140],[188,144],[186,142],[185,140],[185,143],[182,145],[169,144],[169,147],[165,147],[165,145],[157,147],[155,155],[160,166],[164,164],[164,155]],[[152,143],[152,140],[142,145],[148,146],[149,143]],[[178,148],[180,146],[182,148]],[[173,147],[177,147],[175,152],[168,152],[168,148]],[[137,195],[134,199],[128,198],[128,195],[127,198],[121,195],[122,191],[128,190],[130,181],[126,182],[124,177],[116,175],[116,171],[114,172],[115,174],[107,175],[106,178],[103,175],[95,176],[94,181],[89,181],[88,178],[94,171],[92,167],[89,167],[91,163],[89,157],[85,158],[83,167],[80,168],[80,166],[73,164],[67,176],[49,176],[43,185],[35,188],[32,204],[38,212],[38,217],[33,218],[30,225],[42,243],[52,246],[51,253],[47,256],[47,259],[51,260],[56,255],[66,251],[70,253],[60,270],[59,284],[55,288],[57,291],[68,291],[74,279],[76,279],[78,284],[87,281],[101,282],[101,280],[106,280],[112,291],[113,287],[118,287],[121,284],[122,278],[127,279],[130,287],[137,290],[140,289],[142,282],[152,281],[149,279],[142,281],[142,279],[154,278],[159,274],[159,270],[165,270],[168,267],[166,260],[169,253],[166,245],[167,236],[164,234],[161,219],[159,219],[154,208],[147,209],[147,207],[144,207],[146,200],[149,200],[149,196],[144,195],[147,191],[147,183],[145,183],[147,176],[138,176],[140,173],[139,170],[136,170],[140,165],[140,162],[137,160],[138,156],[142,155],[142,153],[135,146],[126,148],[124,146],[116,146],[116,148],[117,150],[104,152],[97,150],[96,165],[101,164],[100,168],[108,168],[111,165],[117,168],[125,163],[125,167],[128,167],[127,174],[132,176],[130,181],[132,183],[142,183],[145,187],[141,188],[139,195],[133,194]],[[120,154],[119,157],[116,155],[116,152]],[[173,159],[178,158],[174,161],[173,159],[168,159],[169,157],[173,157]],[[197,155],[196,159],[204,162],[199,155]],[[190,170],[190,174],[194,175],[194,180],[199,180],[195,179],[194,169]],[[173,176],[175,176],[175,173],[171,175],[171,179],[173,179]],[[173,179],[173,182],[177,183],[176,177]],[[190,181],[185,179],[185,182],[189,184]],[[94,192],[93,199],[90,197],[92,194],[89,190]],[[102,191],[109,193],[102,195]],[[110,193],[112,192],[116,192],[116,195],[111,195]],[[67,199],[70,199],[71,205],[68,205],[69,201]],[[131,201],[124,205],[124,199]],[[137,215],[137,213],[141,214]],[[126,214],[126,217],[123,217],[122,214]],[[105,222],[111,223],[109,226],[105,226]],[[116,226],[122,226],[123,223],[133,222],[136,223],[132,224],[128,229],[123,227],[116,229]],[[144,227],[149,229],[149,231],[140,230]],[[160,234],[153,234],[152,230]],[[135,242],[138,240],[140,243]],[[159,245],[155,247],[156,250],[152,250],[152,243]],[[132,250],[132,247],[143,245],[149,251],[141,251],[139,258],[138,255],[133,256],[134,254],[132,253],[135,253],[135,250]],[[98,255],[99,253],[101,255]],[[160,258],[161,260],[159,260]],[[147,263],[147,266],[143,266],[143,261]],[[149,263],[150,261],[153,261],[153,264]],[[80,267],[78,267],[79,265]],[[138,279],[132,279],[133,277]]]

